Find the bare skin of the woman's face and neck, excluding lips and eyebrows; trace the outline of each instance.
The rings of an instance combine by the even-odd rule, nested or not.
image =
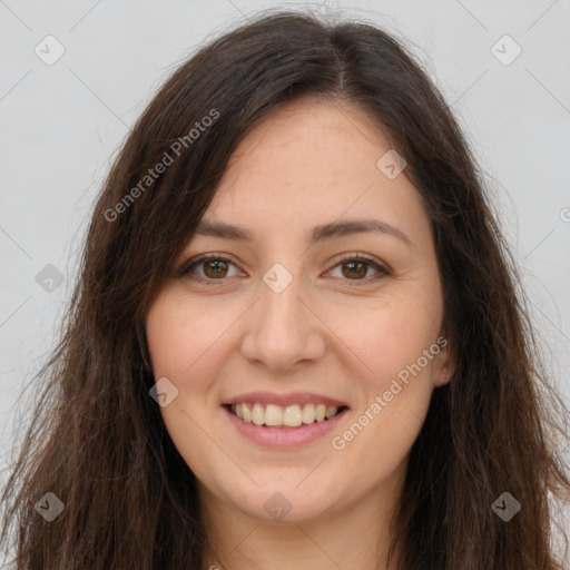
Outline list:
[[[176,268],[206,253],[232,264],[194,269],[210,284],[173,277],[151,304],[153,371],[178,390],[160,412],[199,482],[210,564],[394,568],[389,521],[432,391],[452,373],[448,348],[344,449],[331,443],[442,335],[430,223],[405,170],[389,179],[376,167],[390,148],[346,102],[305,98],[273,111],[239,144],[204,216],[246,226],[254,242],[195,235]],[[383,233],[309,240],[314,226],[353,218],[389,223],[410,244]],[[392,273],[351,266],[351,253]],[[281,293],[262,278],[275,263],[293,277]],[[220,407],[252,391],[326,394],[350,411],[302,449],[262,449]],[[281,520],[264,509],[276,491],[291,504]]]

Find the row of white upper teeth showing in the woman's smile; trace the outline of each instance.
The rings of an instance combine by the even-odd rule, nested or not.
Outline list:
[[[240,420],[256,425],[272,428],[298,428],[303,424],[324,422],[338,412],[335,405],[325,404],[294,404],[285,407],[275,404],[264,406],[258,402],[248,404],[232,404],[230,411]]]

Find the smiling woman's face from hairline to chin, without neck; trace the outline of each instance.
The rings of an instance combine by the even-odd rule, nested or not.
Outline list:
[[[274,111],[151,304],[160,413],[219,505],[302,521],[403,480],[451,364],[430,223],[389,150],[347,104]]]

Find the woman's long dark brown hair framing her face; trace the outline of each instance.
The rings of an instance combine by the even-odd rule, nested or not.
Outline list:
[[[145,317],[237,144],[304,95],[364,109],[405,158],[432,223],[456,368],[411,450],[393,528],[402,569],[561,568],[549,493],[570,489],[556,451],[563,404],[540,372],[512,258],[455,119],[384,31],[276,12],[179,67],[111,168],[3,492],[2,541],[18,569],[202,568],[196,479],[149,396]],[[51,522],[35,509],[47,492],[65,505]],[[509,522],[491,508],[503,492],[521,504]]]

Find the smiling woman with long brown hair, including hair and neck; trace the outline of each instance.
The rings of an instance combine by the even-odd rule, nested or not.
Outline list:
[[[562,568],[514,275],[393,38],[279,12],[213,41],[95,208],[4,492],[17,568]]]

